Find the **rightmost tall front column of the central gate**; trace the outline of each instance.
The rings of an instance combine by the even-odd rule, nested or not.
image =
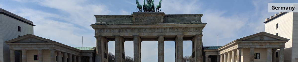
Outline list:
[[[196,35],[197,40],[196,40],[196,50],[195,50],[195,60],[197,62],[203,62],[202,61],[202,37],[203,35]]]

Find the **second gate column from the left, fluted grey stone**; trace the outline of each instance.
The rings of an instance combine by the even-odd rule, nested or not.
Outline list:
[[[115,36],[115,62],[121,62],[120,37]]]

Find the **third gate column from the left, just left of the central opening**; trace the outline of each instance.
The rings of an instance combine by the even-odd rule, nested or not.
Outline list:
[[[134,62],[140,62],[139,61],[139,36],[134,36]]]

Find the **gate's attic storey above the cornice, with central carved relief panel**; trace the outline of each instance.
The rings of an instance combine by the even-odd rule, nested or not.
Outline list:
[[[134,12],[131,15],[94,15],[95,24],[161,24],[202,23],[203,14],[165,14],[164,12]]]

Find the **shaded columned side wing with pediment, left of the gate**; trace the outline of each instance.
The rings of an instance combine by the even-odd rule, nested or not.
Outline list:
[[[66,61],[66,56],[70,59],[74,59],[76,61],[77,57],[80,58],[81,50],[77,48],[70,47],[68,45],[64,45],[62,43],[58,43],[49,39],[45,39],[42,37],[38,37],[35,35],[27,34],[9,41],[5,42],[9,45],[10,57],[11,61],[15,61],[15,51],[18,51],[20,55],[20,61],[23,62],[31,62],[32,60],[27,60],[27,55],[30,55],[28,59],[32,58],[31,55],[36,55],[38,57],[38,61],[46,61],[50,60],[51,62],[55,61],[55,56],[57,53],[57,61],[60,62],[64,58],[63,61]],[[63,54],[63,55],[62,55]],[[63,57],[63,58],[62,58]],[[69,60],[71,61],[71,60]]]

